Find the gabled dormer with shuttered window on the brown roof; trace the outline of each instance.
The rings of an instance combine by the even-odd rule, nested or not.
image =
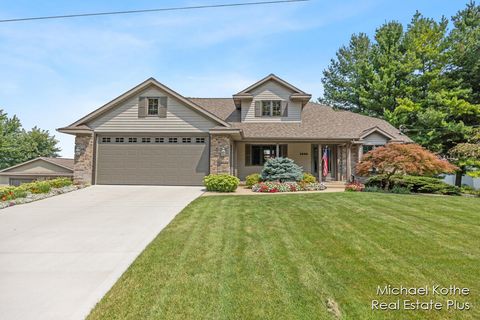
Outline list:
[[[233,95],[242,122],[299,122],[312,97],[274,74]]]

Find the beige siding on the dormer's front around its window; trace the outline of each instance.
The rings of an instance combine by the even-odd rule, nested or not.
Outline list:
[[[256,88],[252,92],[253,100],[242,101],[242,121],[243,122],[289,122],[301,121],[302,106],[300,102],[290,101],[290,95],[293,93],[290,89],[278,84],[275,81],[269,81]],[[281,100],[288,102],[287,117],[255,117],[255,101],[258,100]]]

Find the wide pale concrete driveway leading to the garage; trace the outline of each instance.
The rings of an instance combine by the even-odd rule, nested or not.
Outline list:
[[[0,210],[0,318],[83,319],[200,187],[92,186]]]

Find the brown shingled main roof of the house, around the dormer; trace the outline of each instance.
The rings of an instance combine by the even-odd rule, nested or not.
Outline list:
[[[285,139],[358,139],[362,133],[378,127],[396,140],[411,142],[387,121],[309,102],[302,112],[301,122],[244,123],[231,98],[189,98],[205,110],[243,131],[245,138]]]

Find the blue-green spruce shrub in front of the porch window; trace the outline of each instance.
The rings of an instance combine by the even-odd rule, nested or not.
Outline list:
[[[289,158],[268,159],[262,170],[263,181],[300,181],[302,177],[302,168]]]

